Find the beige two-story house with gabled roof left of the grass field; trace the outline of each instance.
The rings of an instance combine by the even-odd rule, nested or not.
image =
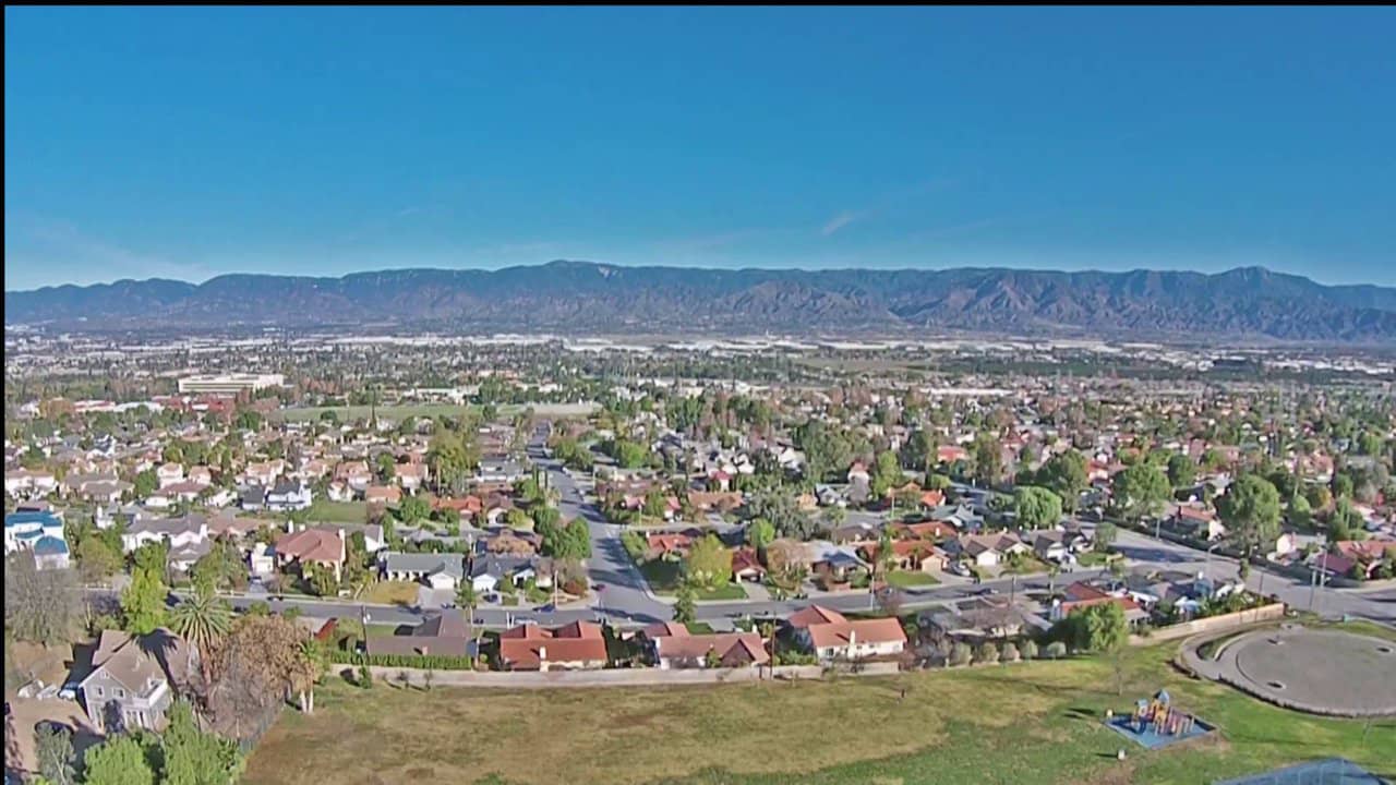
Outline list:
[[[174,701],[174,683],[197,666],[198,650],[169,630],[156,630],[144,640],[103,630],[92,672],[80,686],[88,722],[107,733],[162,729]]]

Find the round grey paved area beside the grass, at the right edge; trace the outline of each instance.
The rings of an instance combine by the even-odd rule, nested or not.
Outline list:
[[[1222,680],[1290,708],[1396,715],[1396,644],[1339,630],[1259,630],[1226,645]]]

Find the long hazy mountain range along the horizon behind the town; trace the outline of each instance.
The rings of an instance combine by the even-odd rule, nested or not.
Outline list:
[[[219,275],[6,292],[6,324],[66,330],[356,327],[792,334],[993,332],[1111,338],[1396,341],[1396,288],[1247,267],[1055,272],[699,270],[553,261],[342,278]]]

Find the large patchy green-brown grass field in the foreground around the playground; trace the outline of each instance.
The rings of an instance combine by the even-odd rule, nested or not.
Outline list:
[[[565,771],[577,784],[1206,784],[1326,756],[1396,775],[1396,721],[1368,728],[1284,711],[1175,673],[1175,651],[1131,651],[1124,696],[1096,659],[718,687],[336,683],[313,717],[283,712],[246,781],[318,785],[334,772],[348,784],[550,785]],[[1125,711],[1160,687],[1219,736],[1148,751],[1101,725],[1107,708]],[[1115,760],[1120,747],[1128,760]]]

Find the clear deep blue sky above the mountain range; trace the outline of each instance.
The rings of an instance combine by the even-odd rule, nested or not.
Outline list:
[[[1392,8],[6,8],[6,289],[553,258],[1396,284]]]

